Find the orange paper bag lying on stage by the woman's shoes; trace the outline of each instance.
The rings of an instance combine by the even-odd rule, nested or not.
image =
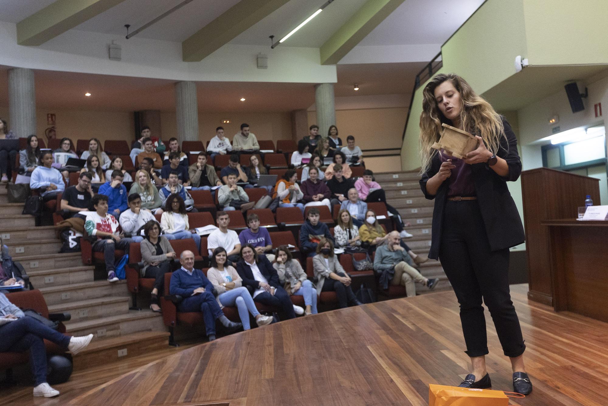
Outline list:
[[[508,406],[503,391],[429,385],[429,406]]]

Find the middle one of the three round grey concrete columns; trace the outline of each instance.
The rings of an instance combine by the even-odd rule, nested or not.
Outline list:
[[[178,140],[198,141],[198,100],[196,83],[182,81],[175,84],[175,118],[178,124]]]

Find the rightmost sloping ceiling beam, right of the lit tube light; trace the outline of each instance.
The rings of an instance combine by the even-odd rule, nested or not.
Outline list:
[[[321,64],[335,65],[405,0],[367,0],[321,46]]]

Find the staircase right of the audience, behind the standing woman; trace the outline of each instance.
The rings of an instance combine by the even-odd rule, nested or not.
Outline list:
[[[429,255],[433,206],[435,201],[428,200],[420,190],[418,171],[375,173],[374,177],[385,191],[386,201],[397,209],[403,222],[410,222],[406,231],[412,238],[404,239],[412,251],[419,255]],[[451,289],[441,263],[429,260],[420,265],[420,273],[426,278],[439,278],[433,292]],[[428,289],[416,287],[416,292],[426,294]]]

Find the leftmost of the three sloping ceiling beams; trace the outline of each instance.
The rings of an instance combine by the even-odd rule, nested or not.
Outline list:
[[[17,43],[37,46],[125,0],[57,0],[17,23]]]

